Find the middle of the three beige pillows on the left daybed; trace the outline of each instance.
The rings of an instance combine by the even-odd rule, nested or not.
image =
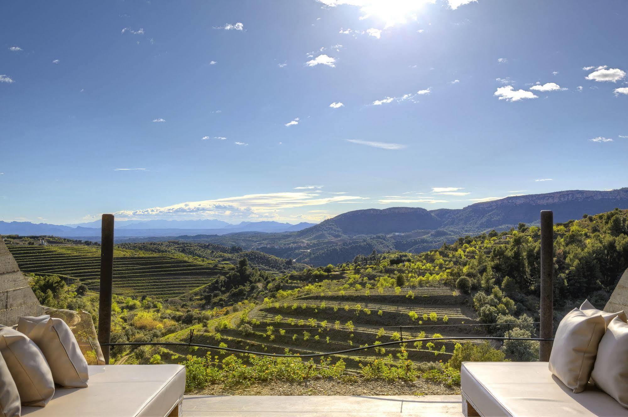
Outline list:
[[[55,393],[50,367],[33,340],[24,333],[0,325],[0,354],[18,387],[23,405],[45,406]]]

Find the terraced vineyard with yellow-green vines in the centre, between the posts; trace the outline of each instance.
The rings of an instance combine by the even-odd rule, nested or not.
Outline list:
[[[390,291],[389,291],[390,290]],[[414,298],[406,295],[411,291]],[[467,296],[459,295],[445,286],[404,287],[397,294],[384,289],[383,294],[365,295],[365,291],[347,291],[343,295],[306,295],[274,303],[254,306],[246,313],[251,328],[243,332],[239,327],[240,313],[236,313],[215,329],[212,326],[195,328],[195,342],[283,354],[286,349],[298,354],[333,352],[361,345],[411,338],[444,336],[482,336],[475,313],[467,307]],[[414,320],[409,314],[416,313]],[[400,328],[400,326],[403,326]],[[222,327],[222,328],[221,328]],[[188,333],[181,332],[180,340],[187,341]],[[171,335],[172,340],[178,340]],[[169,338],[170,340],[170,338]],[[445,362],[453,352],[455,341],[428,341],[406,346],[408,359],[416,362],[442,359]],[[361,350],[343,354],[347,368],[357,371],[382,355],[401,353],[399,345],[384,349]],[[181,352],[185,354],[185,352]],[[349,360],[347,360],[349,359]]]

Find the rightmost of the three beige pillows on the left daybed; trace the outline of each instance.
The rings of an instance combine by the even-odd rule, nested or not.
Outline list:
[[[49,315],[20,317],[18,331],[30,337],[41,349],[57,384],[74,388],[87,386],[87,360],[63,320]]]

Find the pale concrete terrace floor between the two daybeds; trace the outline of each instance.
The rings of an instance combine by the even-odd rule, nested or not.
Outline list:
[[[462,416],[459,395],[185,396],[183,417]]]

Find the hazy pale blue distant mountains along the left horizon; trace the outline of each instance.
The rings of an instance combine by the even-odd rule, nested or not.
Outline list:
[[[294,232],[314,225],[279,222],[241,222],[230,224],[222,220],[119,220],[116,221],[116,237],[178,236],[181,234],[222,235],[236,232]],[[3,222],[0,220],[0,234],[21,236],[53,235],[60,237],[98,237],[100,220],[90,223],[56,225],[31,222]]]

